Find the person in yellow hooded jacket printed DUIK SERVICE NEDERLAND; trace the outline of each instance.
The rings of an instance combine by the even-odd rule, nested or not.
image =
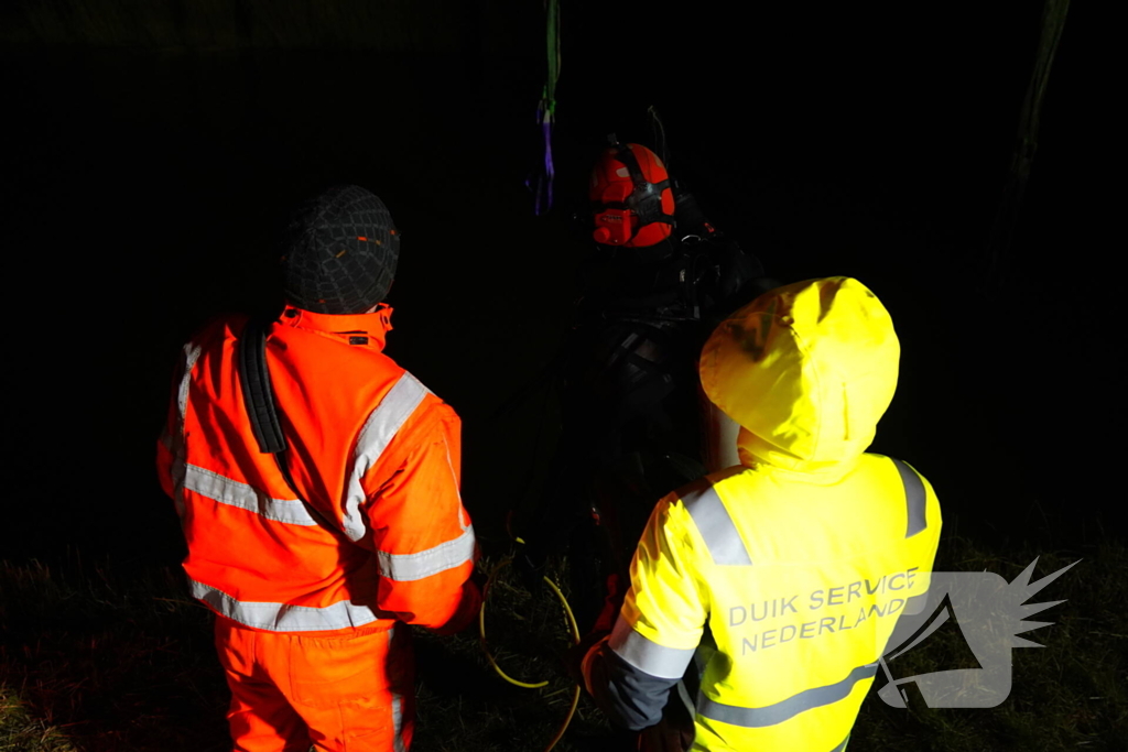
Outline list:
[[[778,287],[716,328],[702,386],[740,424],[741,463],[658,503],[614,626],[582,652],[615,725],[656,728],[694,674],[694,750],[845,749],[900,613],[924,607],[940,540],[929,483],[865,452],[899,353],[889,313],[849,277]]]

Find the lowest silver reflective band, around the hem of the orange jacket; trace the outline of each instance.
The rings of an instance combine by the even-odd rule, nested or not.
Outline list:
[[[188,580],[188,589],[194,598],[208,603],[228,619],[255,629],[270,631],[344,629],[345,627],[361,627],[380,618],[371,608],[350,601],[337,601],[319,609],[288,603],[237,601],[217,587],[191,578]]]

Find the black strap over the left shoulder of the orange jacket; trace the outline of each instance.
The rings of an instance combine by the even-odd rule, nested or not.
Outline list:
[[[284,452],[288,449],[285,434],[282,433],[282,421],[279,418],[277,406],[274,404],[274,389],[271,387],[271,372],[266,368],[266,328],[270,320],[261,317],[253,317],[247,321],[239,337],[238,359],[239,377],[243,382],[243,399],[247,406],[247,417],[250,419],[250,428],[255,433],[255,441],[258,442],[258,451],[264,454],[273,454],[274,462],[282,474],[287,486],[290,487],[294,498],[300,501],[309,515],[314,517],[318,525],[336,537],[341,536],[341,530],[329,523],[320,512],[314,508],[312,504],[302,498],[290,475],[290,468],[285,462]]]

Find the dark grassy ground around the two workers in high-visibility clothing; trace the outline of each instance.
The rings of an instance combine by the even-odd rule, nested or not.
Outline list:
[[[937,569],[988,569],[1013,580],[1038,554],[952,538]],[[981,710],[922,704],[895,709],[874,696],[884,683],[879,676],[851,752],[1128,750],[1128,552],[1105,542],[1040,554],[1033,578],[1082,561],[1034,598],[1067,602],[1036,617],[1052,626],[1025,635],[1043,648],[1014,651],[1010,698]],[[2,564],[0,593],[0,751],[230,749],[211,617],[184,594],[178,573],[85,564],[62,574],[37,564]],[[571,683],[558,655],[569,638],[558,601],[547,591],[530,595],[503,569],[486,613],[499,664],[518,679],[549,679],[548,685],[522,689],[502,681],[476,630],[452,638],[420,631],[413,749],[536,752],[565,718]],[[959,667],[966,651],[958,635],[937,632],[900,658],[898,672]],[[584,697],[556,749],[607,749],[600,742],[606,728]]]

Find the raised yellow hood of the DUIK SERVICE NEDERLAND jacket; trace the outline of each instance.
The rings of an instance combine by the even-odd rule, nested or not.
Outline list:
[[[828,277],[777,287],[730,316],[699,369],[705,393],[741,425],[741,462],[831,480],[873,442],[899,357],[876,295]]]

